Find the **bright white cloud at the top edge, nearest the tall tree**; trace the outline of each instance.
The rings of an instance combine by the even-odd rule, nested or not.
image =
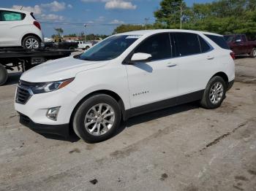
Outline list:
[[[104,2],[105,9],[136,9],[137,5],[131,0],[81,0],[82,2]]]

